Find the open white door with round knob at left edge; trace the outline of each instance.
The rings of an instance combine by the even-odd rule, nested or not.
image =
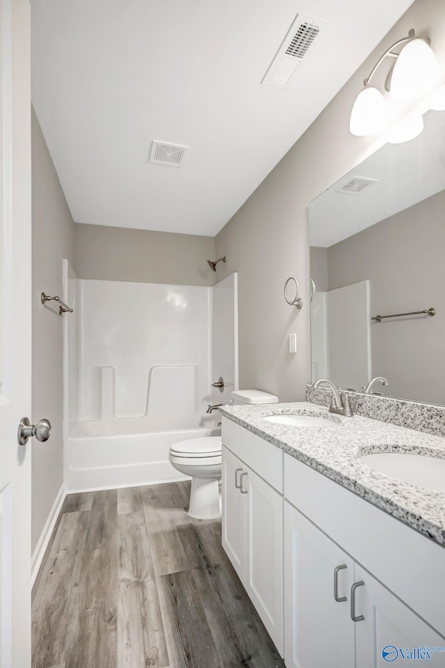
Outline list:
[[[29,0],[0,0],[0,667],[31,665]]]

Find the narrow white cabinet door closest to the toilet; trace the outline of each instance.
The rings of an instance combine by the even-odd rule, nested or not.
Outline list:
[[[245,579],[245,494],[240,491],[240,477],[247,470],[241,459],[223,446],[223,548],[242,582]]]

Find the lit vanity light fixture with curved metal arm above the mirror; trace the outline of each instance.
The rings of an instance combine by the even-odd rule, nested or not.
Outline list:
[[[401,47],[399,53],[394,51],[397,47]],[[385,90],[394,100],[414,100],[427,93],[437,83],[437,61],[428,40],[417,38],[414,30],[410,30],[407,37],[398,40],[385,51],[375,63],[369,77],[364,80],[364,88],[357,95],[350,114],[351,134],[356,136],[375,134],[391,119],[389,100],[385,100],[378,88],[371,86],[371,79],[387,57],[396,58],[396,63],[385,81]],[[417,118],[412,122],[412,132],[414,127],[419,129]],[[399,126],[396,126],[394,136],[398,136],[398,129]],[[402,132],[400,136],[403,136]]]

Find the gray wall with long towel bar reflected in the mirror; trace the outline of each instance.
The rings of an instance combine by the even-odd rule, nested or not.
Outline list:
[[[371,280],[371,315],[434,307],[435,317],[371,325],[372,375],[385,394],[445,404],[445,191],[327,250],[329,289]]]

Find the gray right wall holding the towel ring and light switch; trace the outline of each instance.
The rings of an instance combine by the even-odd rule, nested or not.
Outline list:
[[[443,1],[416,0],[216,237],[217,255],[228,258],[218,276],[238,271],[241,388],[270,390],[284,401],[305,397],[310,379],[307,205],[380,147],[378,139],[350,134],[350,109],[371,67],[412,27],[430,36],[445,61]],[[288,276],[300,281],[305,301],[300,312],[284,302]],[[288,352],[293,332],[296,355]]]

